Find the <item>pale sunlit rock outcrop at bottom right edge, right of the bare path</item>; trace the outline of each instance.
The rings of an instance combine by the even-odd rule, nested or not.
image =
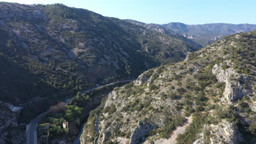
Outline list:
[[[236,144],[244,141],[237,125],[229,123],[224,119],[217,125],[205,125],[202,133],[199,134],[200,139],[197,139],[193,144],[206,143],[206,135],[214,135],[210,137],[211,143],[217,141],[217,143]]]

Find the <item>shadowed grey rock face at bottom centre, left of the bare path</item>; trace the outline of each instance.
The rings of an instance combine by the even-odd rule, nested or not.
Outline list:
[[[154,129],[154,125],[147,122],[138,122],[137,127],[132,131],[130,144],[141,143],[143,141],[144,136],[152,129]]]

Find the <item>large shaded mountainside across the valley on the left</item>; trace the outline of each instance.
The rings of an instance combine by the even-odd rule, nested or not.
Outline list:
[[[11,103],[35,95],[57,97],[56,91],[74,94],[92,87],[90,83],[131,79],[201,48],[176,33],[62,4],[1,2],[0,37],[0,57],[11,65],[1,67],[1,99]],[[15,68],[24,74],[10,70]],[[31,87],[43,92],[27,91]]]

